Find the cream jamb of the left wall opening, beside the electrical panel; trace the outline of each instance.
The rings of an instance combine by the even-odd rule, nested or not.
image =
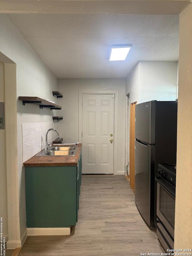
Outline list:
[[[1,52],[0,61],[4,63],[5,86],[5,130],[8,217],[7,249],[11,249],[22,246],[26,239],[26,231],[23,234],[21,234],[19,225],[16,63]],[[13,146],[13,150],[9,149],[9,145]]]

